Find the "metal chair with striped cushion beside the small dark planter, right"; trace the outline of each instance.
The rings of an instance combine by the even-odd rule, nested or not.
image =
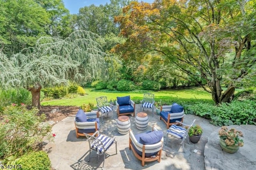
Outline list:
[[[194,119],[194,121],[192,121],[192,123],[190,125],[186,125],[182,122],[176,121],[176,125],[179,124],[179,125],[182,125],[182,127],[172,125],[168,130],[166,130],[167,134],[166,134],[165,145],[167,144],[168,135],[175,136],[176,138],[180,138],[182,140],[180,144],[182,144],[183,152],[186,153],[184,150],[184,140],[186,138],[188,138],[188,143],[190,144],[189,137],[188,137],[188,130],[193,126],[195,121],[196,121],[196,119]]]

